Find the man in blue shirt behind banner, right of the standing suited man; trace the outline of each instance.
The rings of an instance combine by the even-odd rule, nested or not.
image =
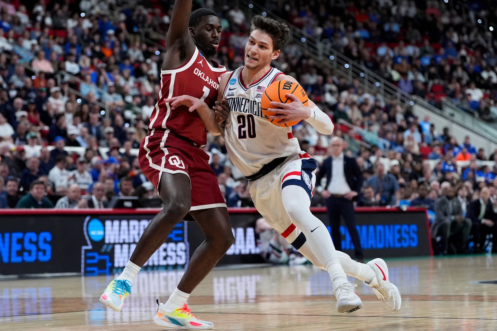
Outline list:
[[[375,165],[375,175],[366,181],[366,186],[373,187],[375,199],[380,201],[380,205],[397,206],[399,204],[399,182],[392,174],[385,174],[385,166],[382,163]]]

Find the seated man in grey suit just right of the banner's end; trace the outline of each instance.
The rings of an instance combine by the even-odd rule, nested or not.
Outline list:
[[[455,252],[464,253],[471,231],[471,221],[463,216],[461,202],[455,198],[455,190],[449,186],[435,202],[435,221],[431,225],[433,239],[441,237],[441,254],[449,252],[449,238],[458,236],[454,243]]]

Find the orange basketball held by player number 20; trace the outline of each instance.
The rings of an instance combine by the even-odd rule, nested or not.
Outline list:
[[[271,106],[269,104],[271,101],[277,101],[281,103],[292,102],[291,99],[286,97],[287,93],[293,94],[297,98],[299,98],[300,101],[302,101],[302,103],[304,104],[304,106],[309,105],[309,98],[307,97],[307,93],[304,90],[304,88],[300,86],[298,83],[291,80],[278,80],[275,81],[274,83],[271,83],[266,88],[264,94],[262,95],[262,98],[260,99],[260,108],[262,110],[262,115],[264,115],[264,118],[266,120],[268,120],[274,125],[277,125],[278,127],[291,127],[300,122],[300,121],[293,121],[293,122],[288,122],[286,124],[279,124],[279,122],[281,121],[280,119],[271,120],[269,118],[269,116],[277,114],[267,111],[269,108],[274,108],[274,106]]]

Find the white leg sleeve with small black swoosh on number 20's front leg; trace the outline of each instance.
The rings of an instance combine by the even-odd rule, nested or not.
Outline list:
[[[333,290],[339,285],[347,283],[347,277],[336,255],[328,229],[309,210],[311,200],[307,192],[299,186],[289,185],[281,191],[281,199],[292,223],[306,236],[306,244],[316,256],[315,261],[319,265],[323,265],[330,274]],[[293,233],[295,232],[298,232],[298,229],[293,231]],[[314,263],[313,260],[310,261]]]

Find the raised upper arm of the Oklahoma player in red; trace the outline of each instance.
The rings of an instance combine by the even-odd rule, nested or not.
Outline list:
[[[172,8],[169,30],[166,35],[166,56],[162,68],[174,69],[183,65],[195,52],[189,20],[192,0],[176,0]]]

